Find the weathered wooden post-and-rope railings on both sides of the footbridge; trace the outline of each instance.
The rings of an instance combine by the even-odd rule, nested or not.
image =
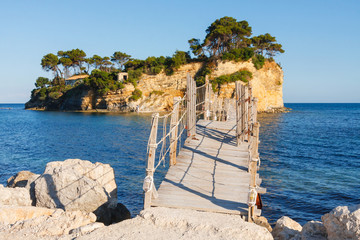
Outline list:
[[[231,105],[230,99],[219,98],[213,92],[207,77],[203,86],[196,87],[195,81],[188,75],[186,93],[183,98],[174,98],[173,110],[163,116],[160,116],[159,113],[153,114],[148,142],[146,177],[143,185],[145,192],[144,209],[150,207],[151,199],[157,198],[158,195],[154,184],[154,173],[157,167],[161,163],[165,163],[166,156],[169,156],[170,165],[176,164],[176,156],[181,148],[181,141],[179,140],[185,133],[185,129],[187,130],[187,137],[194,138],[198,119],[225,121],[229,118]],[[252,221],[258,197],[256,174],[260,162],[258,153],[260,124],[257,122],[257,99],[252,98],[250,84],[245,85],[239,81],[235,83],[235,102],[233,105],[235,105],[236,110],[237,145],[240,146],[242,143],[247,142],[249,147],[248,171],[251,177],[248,196],[248,219]],[[161,121],[162,137],[158,140]],[[156,163],[157,152],[159,156]]]

